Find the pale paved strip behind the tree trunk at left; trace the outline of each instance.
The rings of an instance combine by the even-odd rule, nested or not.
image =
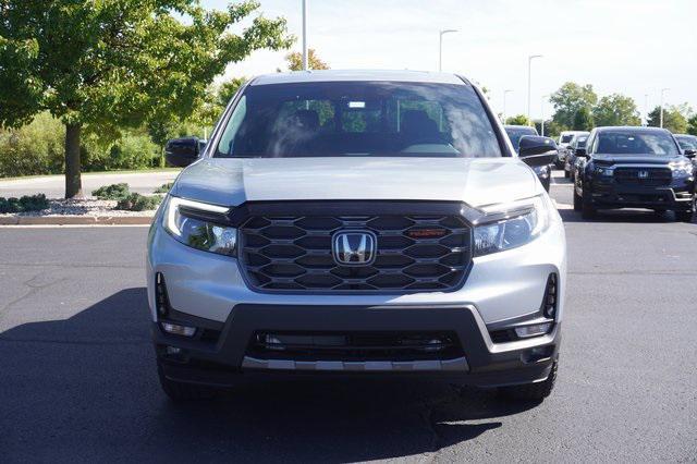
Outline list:
[[[85,197],[91,195],[91,191],[102,185],[118,184],[125,182],[130,185],[131,192],[139,194],[151,194],[157,187],[168,182],[172,182],[179,170],[145,171],[145,172],[94,172],[84,173],[83,194]],[[34,195],[42,193],[49,198],[62,198],[65,195],[65,178],[63,175],[42,175],[26,179],[0,179],[0,197],[21,197],[22,195]]]

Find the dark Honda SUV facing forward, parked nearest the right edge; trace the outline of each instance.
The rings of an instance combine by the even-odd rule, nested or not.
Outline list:
[[[596,127],[574,182],[574,209],[590,218],[598,209],[672,210],[690,222],[695,210],[695,167],[676,139],[658,127]]]

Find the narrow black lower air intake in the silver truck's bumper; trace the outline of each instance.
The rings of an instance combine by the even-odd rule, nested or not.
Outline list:
[[[293,361],[421,361],[464,355],[454,332],[256,332],[255,358]]]

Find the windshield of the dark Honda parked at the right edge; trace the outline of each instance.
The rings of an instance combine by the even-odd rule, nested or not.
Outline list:
[[[606,155],[678,155],[677,145],[668,132],[601,132],[597,144],[594,151]]]

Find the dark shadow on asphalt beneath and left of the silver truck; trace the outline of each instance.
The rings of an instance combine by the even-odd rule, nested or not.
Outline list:
[[[535,403],[439,382],[279,379],[211,401],[161,392],[145,289],[0,333],[8,461],[366,461],[433,453]],[[5,461],[7,462],[7,461]]]

